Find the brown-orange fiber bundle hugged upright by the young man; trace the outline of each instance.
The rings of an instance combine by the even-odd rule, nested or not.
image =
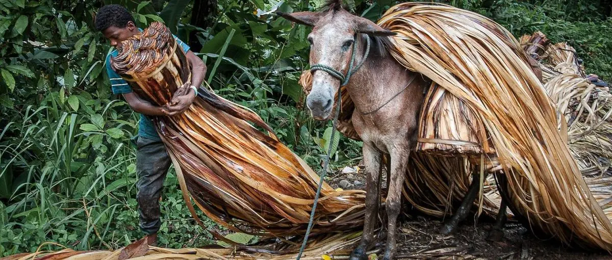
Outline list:
[[[111,66],[141,97],[164,105],[189,80],[189,64],[176,46],[166,26],[152,23],[122,42]],[[196,220],[189,195],[208,217],[233,231],[304,234],[319,177],[258,115],[200,88],[184,114],[153,121]],[[359,226],[364,197],[365,191],[323,185],[313,234],[329,232],[330,226],[337,231]]]

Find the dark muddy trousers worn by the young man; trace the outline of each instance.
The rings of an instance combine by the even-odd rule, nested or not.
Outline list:
[[[163,180],[170,168],[170,155],[162,141],[138,136],[136,141],[136,171],[138,182],[138,213],[140,229],[145,234],[159,231],[160,220],[159,198],[162,195]]]

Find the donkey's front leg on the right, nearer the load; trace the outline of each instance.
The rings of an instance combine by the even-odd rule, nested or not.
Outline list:
[[[401,209],[401,188],[406,177],[406,166],[410,155],[409,146],[396,146],[394,150],[390,150],[391,169],[389,182],[389,193],[385,205],[387,207],[387,247],[385,248],[383,259],[393,259],[395,251],[395,230],[397,229],[397,216],[400,215]]]

